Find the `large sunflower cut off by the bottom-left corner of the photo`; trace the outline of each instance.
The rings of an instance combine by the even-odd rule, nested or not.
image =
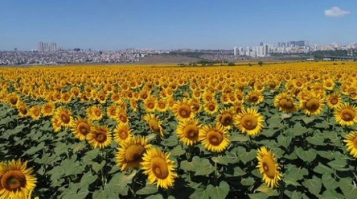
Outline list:
[[[33,170],[27,168],[27,162],[12,160],[0,166],[0,198],[26,199],[31,190],[36,187],[37,179]]]

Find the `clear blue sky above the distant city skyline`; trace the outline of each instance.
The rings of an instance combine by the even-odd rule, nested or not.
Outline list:
[[[96,50],[350,43],[356,22],[356,0],[1,0],[0,50],[38,41]]]

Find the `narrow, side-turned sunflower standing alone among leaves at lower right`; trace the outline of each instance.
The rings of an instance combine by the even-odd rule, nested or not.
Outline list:
[[[271,188],[277,187],[281,180],[279,165],[276,163],[275,154],[267,147],[262,146],[257,152],[259,172],[263,174],[264,182]]]

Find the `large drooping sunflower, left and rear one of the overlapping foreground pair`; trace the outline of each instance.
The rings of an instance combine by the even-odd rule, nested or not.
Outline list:
[[[121,142],[116,154],[116,162],[121,171],[130,168],[139,168],[144,153],[151,144],[142,137],[132,137],[127,142]]]

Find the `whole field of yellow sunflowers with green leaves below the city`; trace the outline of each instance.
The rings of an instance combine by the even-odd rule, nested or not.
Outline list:
[[[0,68],[0,199],[356,199],[357,64]]]

